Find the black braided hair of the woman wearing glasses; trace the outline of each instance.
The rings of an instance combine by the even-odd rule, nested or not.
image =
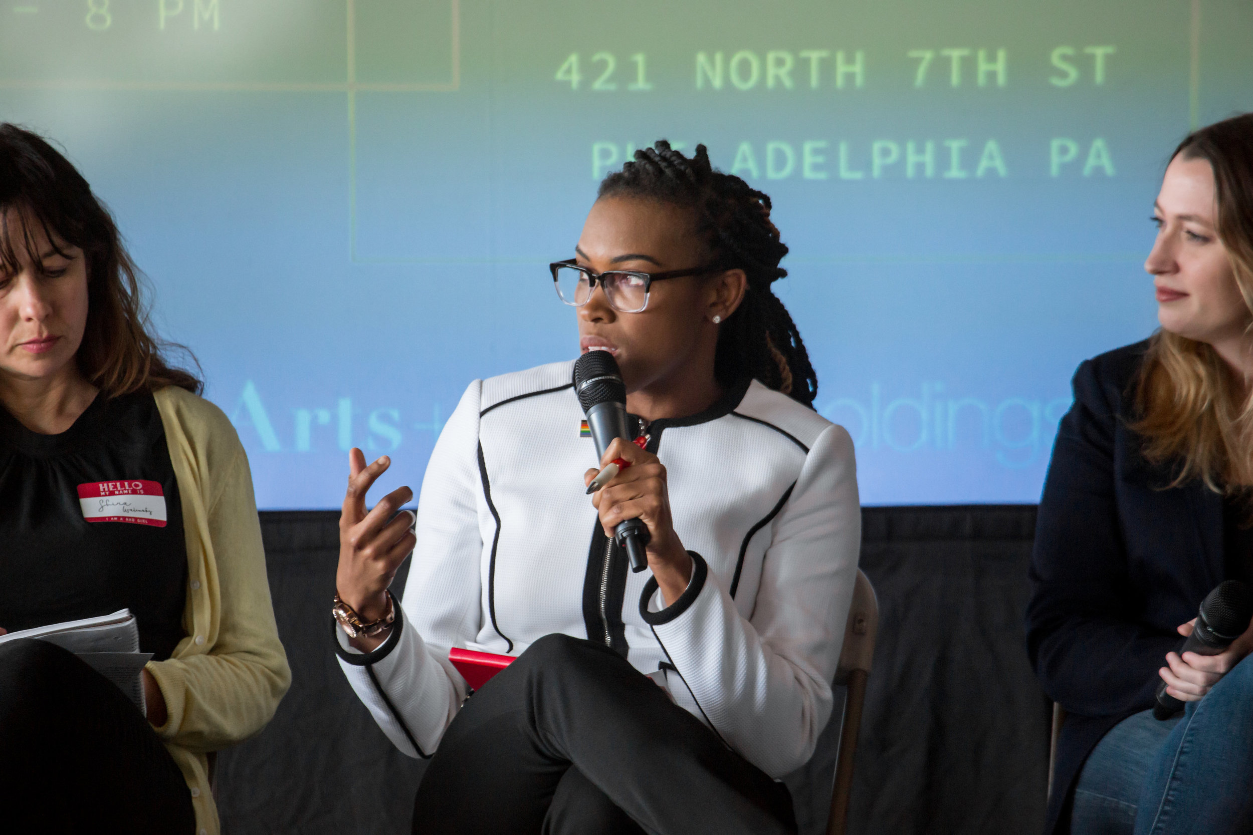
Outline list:
[[[779,267],[787,245],[771,222],[771,199],[734,174],[709,164],[704,145],[689,159],[664,139],[635,151],[600,183],[596,197],[640,197],[695,213],[697,234],[722,269],[743,269],[748,292],[718,334],[714,376],[723,386],[744,377],[813,407],[818,377],[787,308],[771,284],[787,275]]]

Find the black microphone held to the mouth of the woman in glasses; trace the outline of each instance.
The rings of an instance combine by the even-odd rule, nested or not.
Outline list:
[[[626,427],[626,383],[623,382],[618,361],[608,351],[589,351],[574,363],[574,391],[579,396],[579,406],[588,416],[588,428],[596,444],[598,461],[614,438],[630,441],[633,434]],[[626,551],[632,571],[648,568],[648,556],[644,546],[649,533],[644,520],[626,520],[614,528],[614,542]]]

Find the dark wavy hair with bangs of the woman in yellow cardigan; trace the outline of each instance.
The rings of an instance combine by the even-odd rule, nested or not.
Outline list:
[[[109,210],[74,165],[38,134],[0,124],[0,270],[20,270],[19,252],[41,263],[34,233],[61,240],[86,259],[86,329],[78,364],[108,397],[178,386],[199,393],[203,383],[169,364],[165,351],[185,352],[149,330],[139,270],[122,245]],[[58,254],[64,255],[58,250]]]

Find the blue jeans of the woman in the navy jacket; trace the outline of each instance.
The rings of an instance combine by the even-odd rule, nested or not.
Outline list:
[[[1183,716],[1123,720],[1084,764],[1071,835],[1253,831],[1253,656]]]

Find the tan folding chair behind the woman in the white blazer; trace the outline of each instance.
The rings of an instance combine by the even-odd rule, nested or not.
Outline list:
[[[836,755],[836,779],[831,787],[831,814],[827,835],[845,835],[848,826],[848,795],[853,784],[853,757],[861,730],[862,706],[866,704],[866,680],[875,658],[875,637],[878,633],[878,598],[870,578],[857,570],[853,603],[848,608],[845,643],[840,650],[834,684],[848,689],[845,716],[840,730],[840,751]]]

